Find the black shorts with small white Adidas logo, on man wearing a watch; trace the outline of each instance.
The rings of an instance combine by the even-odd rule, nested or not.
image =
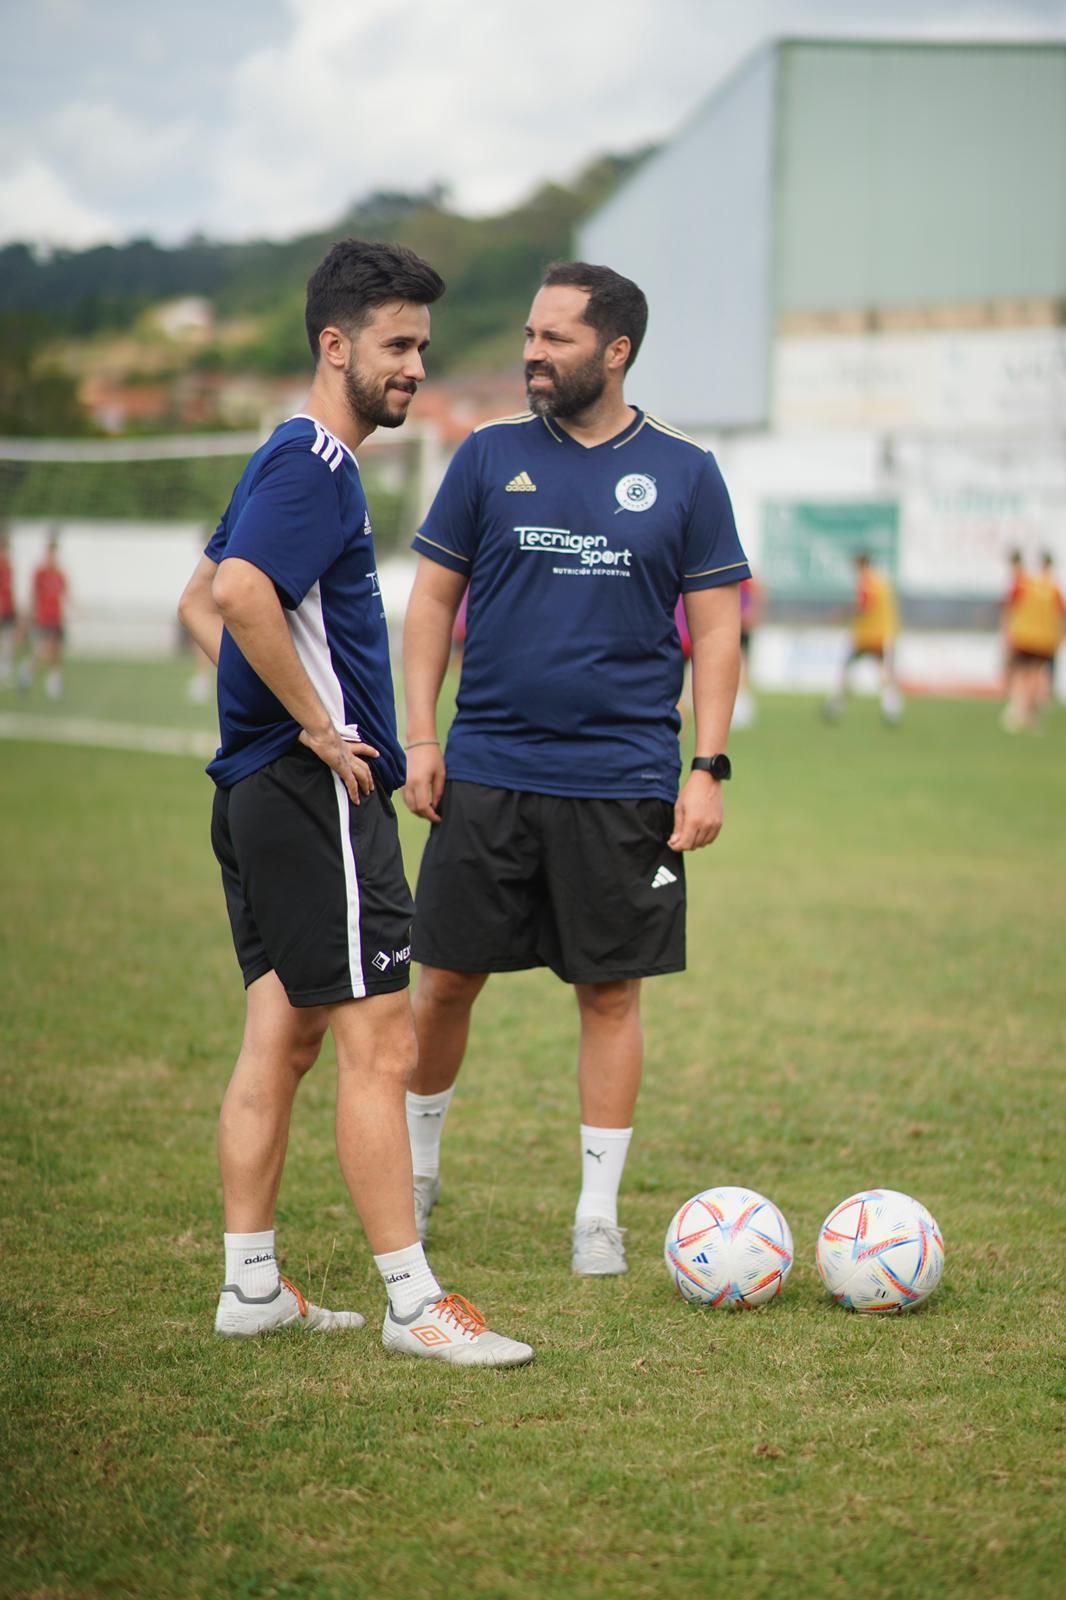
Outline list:
[[[685,862],[666,800],[445,784],[415,891],[415,960],[551,966],[568,984],[685,970]]]

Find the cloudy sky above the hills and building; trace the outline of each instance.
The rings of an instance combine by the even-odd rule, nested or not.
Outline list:
[[[1066,0],[0,0],[0,243],[495,211],[679,126],[776,35],[1066,40]]]

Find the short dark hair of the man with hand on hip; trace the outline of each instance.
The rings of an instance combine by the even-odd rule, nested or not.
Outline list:
[[[407,245],[341,238],[307,278],[307,342],[319,360],[319,334],[331,325],[357,333],[378,306],[432,306],[445,291],[439,272]]]

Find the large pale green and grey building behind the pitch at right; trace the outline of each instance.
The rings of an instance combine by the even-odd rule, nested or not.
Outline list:
[[[576,250],[647,291],[631,392],[714,445],[778,622],[866,544],[904,670],[991,686],[1005,550],[1066,566],[1066,46],[781,42]],[[771,643],[824,682],[834,642]]]

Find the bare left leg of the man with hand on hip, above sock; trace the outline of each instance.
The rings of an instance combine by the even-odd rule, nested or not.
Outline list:
[[[218,1128],[229,1234],[274,1227],[293,1101],[325,1030],[323,1008],[291,1006],[277,973],[248,987],[245,1037]]]

